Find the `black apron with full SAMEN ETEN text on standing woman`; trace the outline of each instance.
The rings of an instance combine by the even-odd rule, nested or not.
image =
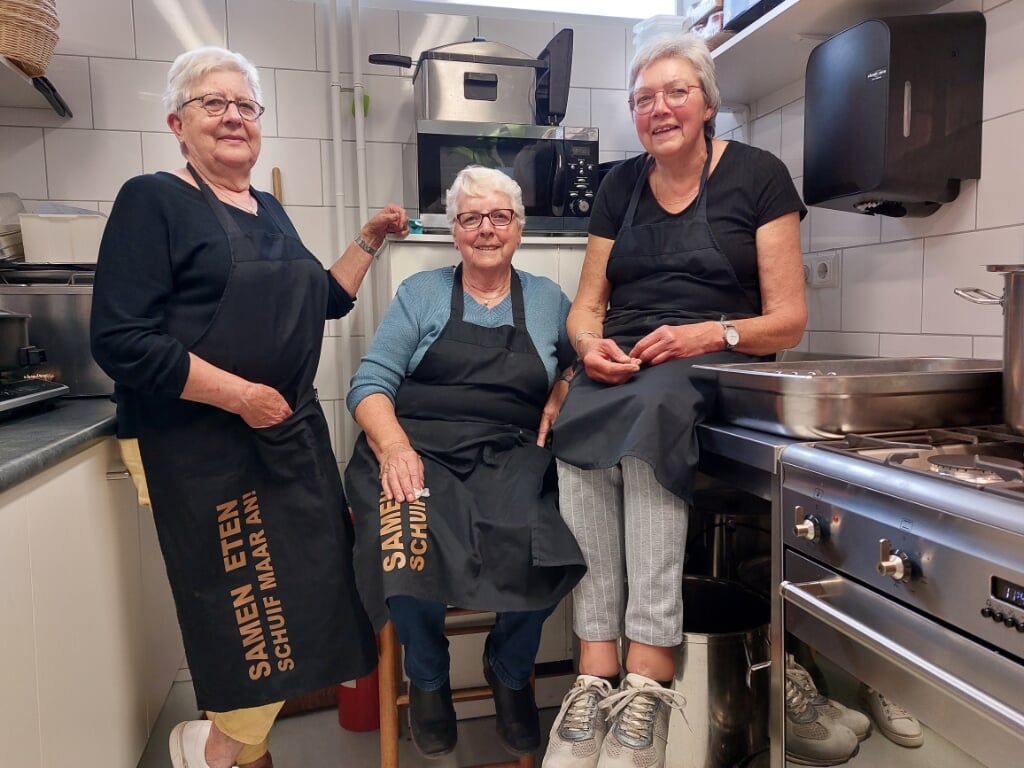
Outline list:
[[[312,386],[327,312],[324,268],[268,206],[262,211],[278,231],[243,232],[189,171],[224,229],[231,269],[209,327],[182,341],[209,362],[278,389],[294,411],[252,429],[211,406],[147,398],[139,421],[197,701],[223,712],[361,677],[377,649],[355,592],[351,521]],[[165,330],[175,336],[171,314]]]

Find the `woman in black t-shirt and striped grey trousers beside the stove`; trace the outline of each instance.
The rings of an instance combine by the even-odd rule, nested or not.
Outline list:
[[[714,382],[691,366],[770,355],[806,322],[805,209],[776,158],[714,138],[705,43],[642,47],[629,88],[645,152],[595,201],[567,324],[581,365],[554,429],[561,512],[588,572],[573,592],[581,675],[545,768],[664,765],[694,427],[714,408]]]

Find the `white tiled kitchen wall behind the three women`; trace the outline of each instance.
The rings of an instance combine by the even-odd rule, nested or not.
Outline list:
[[[572,88],[564,124],[596,125],[603,161],[641,151],[626,106],[626,68],[633,55],[632,22],[509,11],[485,15],[423,13],[403,0],[364,7],[359,66],[370,95],[366,121],[368,205],[401,200],[401,145],[413,136],[413,70],[374,66],[370,53],[413,58],[475,35],[536,55],[562,27],[574,31]],[[963,6],[963,7],[962,7]],[[109,211],[121,183],[140,172],[178,167],[180,155],[159,104],[166,70],[181,50],[226,43],[260,68],[267,114],[254,183],[270,188],[282,170],[289,214],[325,263],[339,250],[335,234],[330,128],[328,10],[292,0],[191,0],[184,17],[160,0],[61,0],[60,42],[47,73],[74,112],[65,120],[41,110],[0,108],[0,190],[27,201],[76,201]],[[997,309],[952,296],[979,285],[1000,292],[986,263],[1024,260],[1024,0],[961,0],[950,8],[986,12],[982,178],[927,218],[891,219],[814,208],[801,225],[805,253],[837,250],[839,288],[808,292],[810,322],[800,347],[817,352],[906,354],[943,352],[998,357]],[[343,88],[352,86],[351,19],[338,19]],[[801,43],[804,44],[804,43]],[[771,62],[765,62],[771,66]],[[354,121],[350,92],[340,95],[344,161],[343,221],[358,226]],[[798,190],[803,174],[803,82],[764,94],[719,117],[723,135],[779,155]],[[748,114],[749,111],[749,114]],[[560,284],[575,292],[582,254],[563,248]],[[544,266],[544,265],[541,265]],[[373,278],[371,278],[373,280]],[[322,397],[338,395],[372,333],[372,302],[328,324]],[[341,347],[339,347],[341,345]],[[344,461],[352,430],[334,407],[333,434]]]

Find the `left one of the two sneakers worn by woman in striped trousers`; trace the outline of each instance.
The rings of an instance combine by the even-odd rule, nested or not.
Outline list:
[[[562,699],[541,768],[596,768],[608,726],[598,710],[611,693],[611,683],[581,675]]]

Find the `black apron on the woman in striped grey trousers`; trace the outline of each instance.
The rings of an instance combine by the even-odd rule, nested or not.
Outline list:
[[[710,139],[707,147],[696,200],[673,220],[634,223],[653,160],[633,187],[606,270],[612,289],[604,336],[626,352],[662,325],[760,313],[759,299],[743,290],[708,222]],[[624,456],[641,459],[662,485],[690,502],[697,467],[695,427],[714,411],[716,398],[714,378],[692,366],[749,359],[728,351],[674,359],[643,367],[617,385],[592,381],[580,367],[552,430],[552,450],[582,469],[606,469]]]

